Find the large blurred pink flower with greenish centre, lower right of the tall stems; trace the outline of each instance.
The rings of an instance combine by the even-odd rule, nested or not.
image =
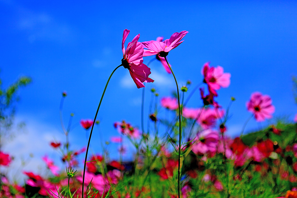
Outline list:
[[[216,131],[207,129],[197,134],[194,139],[194,146],[192,151],[195,154],[204,154],[207,152],[215,152],[217,150],[217,144],[219,140],[219,134]]]

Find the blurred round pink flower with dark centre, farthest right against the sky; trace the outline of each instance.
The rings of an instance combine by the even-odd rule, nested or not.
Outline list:
[[[255,92],[247,102],[247,110],[255,115],[256,121],[261,122],[266,118],[272,118],[271,114],[274,113],[275,108],[268,95],[263,96],[260,92]]]

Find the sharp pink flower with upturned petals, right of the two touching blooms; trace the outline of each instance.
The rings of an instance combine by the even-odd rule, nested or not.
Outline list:
[[[166,39],[165,41],[146,41],[142,42],[145,46],[143,51],[143,56],[151,56],[159,54],[161,57],[166,57],[168,52],[174,48],[176,48],[183,41],[181,39],[188,33],[188,31],[176,32],[171,35],[170,39]]]

